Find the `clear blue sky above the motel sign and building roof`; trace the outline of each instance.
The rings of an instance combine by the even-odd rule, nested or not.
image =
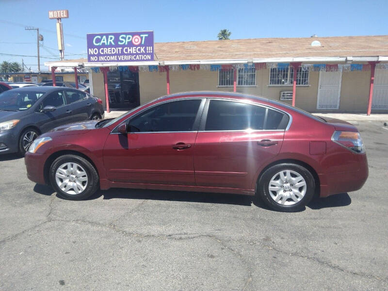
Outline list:
[[[388,34],[388,1],[344,0],[0,0],[0,53],[36,55],[36,32],[44,36],[41,56],[58,58],[55,19],[49,10],[68,9],[63,19],[65,58],[86,57],[86,33],[153,30],[155,42]],[[36,57],[0,55],[0,62],[37,68]],[[41,58],[41,65],[52,59]],[[42,66],[41,70],[47,70]]]

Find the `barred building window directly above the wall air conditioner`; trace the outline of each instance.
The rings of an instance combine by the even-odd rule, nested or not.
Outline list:
[[[289,66],[284,69],[270,69],[269,85],[274,86],[292,86],[294,78],[294,69]],[[309,85],[309,71],[307,67],[300,67],[296,76],[296,85]]]

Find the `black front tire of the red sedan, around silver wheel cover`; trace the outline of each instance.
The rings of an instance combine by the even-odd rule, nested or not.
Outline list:
[[[62,189],[60,189],[59,185],[57,184],[56,177],[55,177],[56,172],[58,168],[64,165],[65,163],[76,163],[77,165],[81,166],[86,173],[86,176],[87,176],[87,182],[85,183],[86,187],[79,194],[68,194]],[[95,194],[99,188],[99,177],[98,177],[96,168],[88,160],[77,155],[64,155],[64,156],[58,157],[54,162],[52,162],[50,166],[49,178],[50,178],[51,185],[55,189],[57,194],[69,200],[86,199],[91,195]],[[62,179],[62,182],[63,181],[64,180]],[[70,189],[74,190],[74,188],[69,188],[69,191]]]

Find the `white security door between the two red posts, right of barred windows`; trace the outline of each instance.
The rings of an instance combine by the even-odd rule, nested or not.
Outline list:
[[[317,109],[338,109],[342,72],[319,72]]]

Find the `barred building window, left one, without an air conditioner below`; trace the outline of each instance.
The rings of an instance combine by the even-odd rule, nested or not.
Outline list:
[[[237,73],[237,86],[255,86],[256,69],[242,68]],[[218,86],[233,86],[233,69],[218,70]]]

